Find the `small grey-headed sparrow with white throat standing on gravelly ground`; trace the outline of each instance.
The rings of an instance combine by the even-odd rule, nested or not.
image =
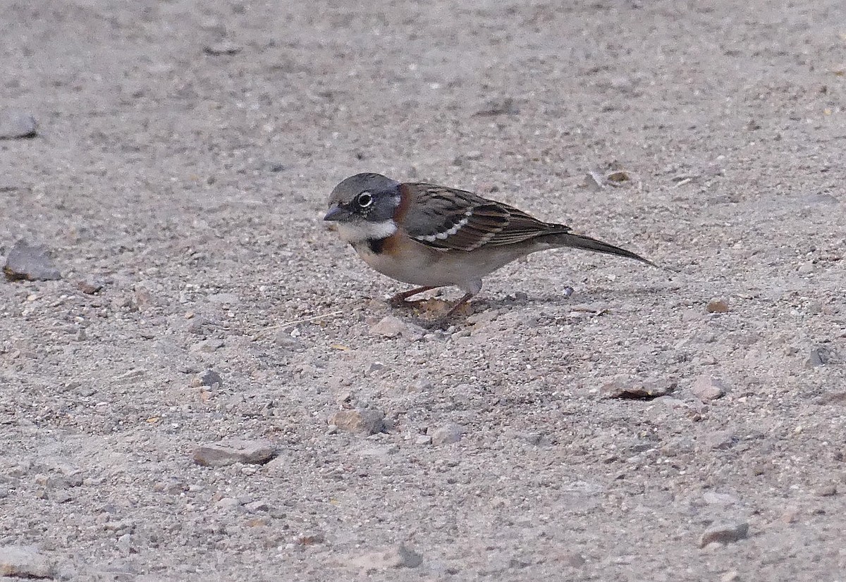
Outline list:
[[[543,222],[503,202],[437,184],[401,183],[379,173],[357,173],[335,186],[323,220],[334,222],[341,239],[374,270],[416,286],[393,295],[390,305],[407,305],[410,297],[434,288],[464,291],[427,327],[447,323],[481,291],[482,277],[539,250],[570,247],[656,266],[630,250]]]

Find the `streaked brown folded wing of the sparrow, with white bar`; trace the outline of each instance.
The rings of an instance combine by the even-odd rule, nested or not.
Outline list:
[[[516,244],[541,234],[566,233],[524,211],[472,192],[434,184],[402,184],[403,222],[409,235],[437,249],[474,250],[486,244]]]

